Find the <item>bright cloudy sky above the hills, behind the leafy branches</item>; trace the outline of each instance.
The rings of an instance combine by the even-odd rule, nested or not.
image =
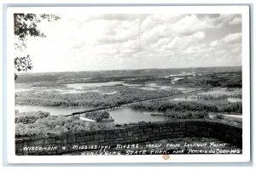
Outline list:
[[[28,37],[32,72],[241,66],[241,14],[56,14]]]

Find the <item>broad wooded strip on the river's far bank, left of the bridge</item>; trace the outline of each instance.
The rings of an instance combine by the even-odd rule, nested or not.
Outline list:
[[[60,94],[53,91],[32,91],[17,93],[16,103],[23,105],[45,105],[45,106],[90,106],[103,107],[129,104],[135,101],[155,99],[174,94],[181,94],[178,90],[150,91],[140,88],[129,88],[125,86],[102,87],[99,90],[117,91],[119,93],[108,95],[95,92],[81,94]]]

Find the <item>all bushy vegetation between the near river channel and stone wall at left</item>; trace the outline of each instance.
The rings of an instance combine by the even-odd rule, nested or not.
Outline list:
[[[79,116],[50,116],[48,112],[31,111],[15,114],[16,136],[38,135],[46,133],[67,133],[75,131],[90,131],[105,127],[113,127],[113,118],[108,111],[94,111],[87,113],[86,118],[96,122],[81,120]]]

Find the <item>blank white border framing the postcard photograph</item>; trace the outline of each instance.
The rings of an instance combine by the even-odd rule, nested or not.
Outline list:
[[[86,10],[84,10],[86,9]],[[161,155],[151,156],[15,156],[15,78],[13,55],[13,14],[242,14],[242,154],[241,155]],[[100,163],[100,162],[248,162],[250,161],[250,43],[247,6],[146,6],[146,7],[34,7],[8,8],[7,18],[7,138],[9,163]]]

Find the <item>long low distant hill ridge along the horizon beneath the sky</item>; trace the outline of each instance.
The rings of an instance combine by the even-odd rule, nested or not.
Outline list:
[[[77,72],[48,72],[48,73],[22,73],[18,74],[16,83],[24,82],[55,82],[89,77],[163,77],[177,75],[182,72],[195,72],[197,74],[213,72],[237,72],[241,67],[195,67],[176,69],[143,69],[143,70],[115,70],[115,71],[77,71]]]

